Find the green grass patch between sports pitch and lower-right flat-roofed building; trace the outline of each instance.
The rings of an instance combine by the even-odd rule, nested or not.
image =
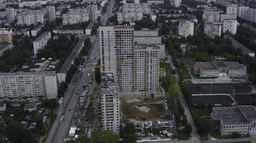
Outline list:
[[[195,107],[192,106],[191,108],[191,114],[194,119],[201,116],[210,116],[211,108],[209,107]]]

